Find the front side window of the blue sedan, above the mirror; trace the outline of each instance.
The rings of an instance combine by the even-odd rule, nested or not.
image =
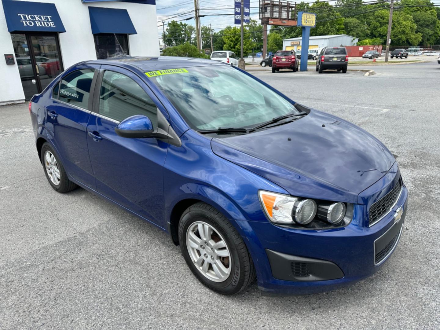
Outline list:
[[[99,114],[122,121],[135,114],[150,118],[157,127],[158,108],[148,94],[132,78],[105,71],[99,95]]]

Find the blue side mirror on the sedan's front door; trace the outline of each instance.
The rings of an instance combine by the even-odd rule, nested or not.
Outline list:
[[[141,114],[125,118],[114,130],[117,135],[132,139],[154,137],[156,133],[150,118]]]

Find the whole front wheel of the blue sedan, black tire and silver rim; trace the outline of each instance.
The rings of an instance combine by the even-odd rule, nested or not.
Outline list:
[[[202,228],[202,231],[205,229],[210,231],[211,239],[204,241],[206,234],[199,234],[198,228]],[[193,238],[188,240],[187,235],[190,233]],[[194,245],[190,244],[188,247],[189,241]],[[226,247],[213,249],[212,246],[220,241],[224,241]],[[183,257],[194,276],[215,292],[224,295],[235,294],[244,290],[255,279],[255,268],[246,244],[227,218],[211,205],[196,203],[182,214],[179,223],[179,242]],[[198,244],[201,244],[202,249],[196,247]],[[219,250],[229,257],[221,259],[222,257],[216,255],[216,251]],[[201,265],[198,266],[193,259],[201,260]],[[220,262],[223,265],[221,268],[216,266]],[[204,273],[202,269],[205,264],[208,264],[208,270]],[[214,266],[218,269],[217,272]],[[216,279],[220,277],[218,274],[224,278]]]

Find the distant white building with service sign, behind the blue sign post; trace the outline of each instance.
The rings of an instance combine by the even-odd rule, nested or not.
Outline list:
[[[290,38],[282,40],[283,50],[301,51],[302,37]],[[359,41],[358,38],[348,36],[346,34],[337,34],[334,36],[315,36],[310,37],[308,49],[321,49],[324,47],[353,46]]]

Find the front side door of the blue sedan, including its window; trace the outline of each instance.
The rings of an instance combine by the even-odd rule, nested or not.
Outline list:
[[[120,121],[135,114],[149,117],[156,128],[161,111],[158,105],[158,99],[136,74],[102,66],[87,139],[96,190],[162,227],[162,173],[168,143],[155,138],[124,138],[115,132]]]

